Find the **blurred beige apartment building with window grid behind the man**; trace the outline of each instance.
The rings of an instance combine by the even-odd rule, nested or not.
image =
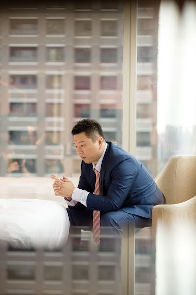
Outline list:
[[[138,9],[137,157],[156,174],[153,18]],[[82,118],[122,146],[123,2],[10,6],[0,20],[1,175],[80,173],[71,129]]]

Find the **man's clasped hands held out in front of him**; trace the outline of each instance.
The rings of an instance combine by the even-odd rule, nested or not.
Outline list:
[[[58,178],[54,174],[51,175],[51,178],[55,180],[53,183],[55,196],[61,196],[71,201],[71,197],[75,189],[73,182],[67,177],[63,176],[62,178]]]

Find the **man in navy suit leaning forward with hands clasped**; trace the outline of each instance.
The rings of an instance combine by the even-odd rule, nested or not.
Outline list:
[[[106,142],[93,119],[79,121],[72,135],[82,159],[78,188],[66,177],[51,176],[55,195],[64,197],[69,206],[70,225],[80,231],[90,227],[97,243],[106,229],[120,236],[124,223],[150,225],[152,208],[164,204],[165,197],[140,161]]]

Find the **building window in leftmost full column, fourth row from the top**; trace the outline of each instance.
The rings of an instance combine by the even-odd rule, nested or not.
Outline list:
[[[19,117],[36,116],[36,103],[11,102],[9,105],[9,115]]]

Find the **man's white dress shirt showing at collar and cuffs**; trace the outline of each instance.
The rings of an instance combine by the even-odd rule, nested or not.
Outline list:
[[[94,163],[92,163],[93,171],[94,171],[94,168],[96,167],[96,170],[99,173],[99,177],[100,177],[100,172],[101,172],[101,164],[102,164],[102,161],[103,161],[103,158],[104,158],[104,155],[105,155],[107,146],[108,146],[108,144],[106,143],[104,152],[103,152],[101,158],[99,159],[99,161],[97,162],[97,165],[95,165]],[[89,192],[76,187],[74,189],[74,191],[73,191],[73,194],[72,194],[72,200],[70,202],[66,201],[65,199],[64,200],[67,203],[67,205],[69,205],[71,207],[75,206],[78,202],[80,202],[85,207],[87,207],[86,200],[87,200],[88,194],[89,194]]]

